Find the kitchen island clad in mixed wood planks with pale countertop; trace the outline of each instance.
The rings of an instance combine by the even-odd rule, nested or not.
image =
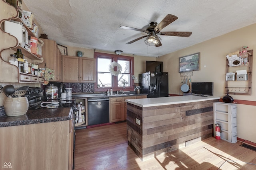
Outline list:
[[[213,135],[214,96],[175,96],[127,102],[128,145],[143,161]]]

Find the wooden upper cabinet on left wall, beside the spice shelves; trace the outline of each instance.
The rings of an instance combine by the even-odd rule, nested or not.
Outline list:
[[[42,39],[42,41],[44,41],[44,47],[42,48],[42,57],[44,58],[44,62],[39,64],[39,68],[44,68],[45,63],[46,68],[54,70],[54,81],[61,82],[61,53],[58,49],[58,45],[55,41],[50,39]]]

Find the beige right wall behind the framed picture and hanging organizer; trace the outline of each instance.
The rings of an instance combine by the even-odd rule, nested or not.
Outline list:
[[[214,96],[223,97],[225,90],[226,55],[249,46],[256,49],[256,24],[232,31],[225,35],[204,41],[157,58],[164,62],[164,71],[169,72],[169,93],[181,94],[179,57],[200,52],[200,70],[194,71],[192,82],[214,82]],[[253,60],[252,69],[252,96],[230,95],[236,100],[256,101],[256,60]],[[238,68],[239,70],[239,68]],[[237,135],[239,138],[256,143],[256,106],[238,104],[237,110]]]

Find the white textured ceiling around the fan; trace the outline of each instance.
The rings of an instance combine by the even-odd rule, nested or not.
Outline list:
[[[122,50],[127,54],[162,56],[256,23],[255,0],[23,0],[49,39],[58,44]],[[146,29],[167,14],[178,20],[162,31],[191,31],[190,37],[161,36],[162,46],[148,46],[144,32],[121,29],[125,25]],[[241,35],[238,35],[241,36]]]

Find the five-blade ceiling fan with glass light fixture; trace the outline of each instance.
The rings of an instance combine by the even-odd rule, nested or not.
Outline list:
[[[189,37],[192,34],[192,32],[176,32],[176,31],[160,32],[164,27],[166,27],[167,25],[169,25],[170,23],[172,23],[173,21],[175,21],[177,19],[178,19],[178,17],[176,17],[172,14],[168,14],[166,17],[164,17],[164,19],[159,24],[157,24],[157,22],[154,22],[154,21],[150,22],[149,26],[147,27],[146,30],[133,28],[133,27],[127,27],[127,26],[120,26],[120,28],[141,31],[141,32],[148,34],[148,35],[139,37],[137,39],[134,39],[126,44],[134,43],[135,41],[138,41],[138,40],[146,37],[146,39],[144,40],[146,45],[150,45],[150,46],[154,45],[156,47],[160,47],[162,45],[162,43],[161,43],[161,38],[158,37],[158,35]]]

